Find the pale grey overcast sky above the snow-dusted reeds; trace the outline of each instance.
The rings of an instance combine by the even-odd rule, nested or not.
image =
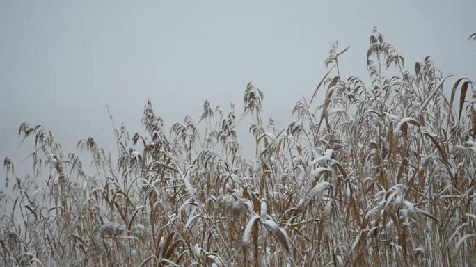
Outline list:
[[[322,78],[329,42],[351,46],[342,76],[367,79],[375,25],[406,69],[430,55],[444,74],[474,78],[476,70],[476,42],[467,41],[476,32],[474,0],[0,3],[2,161],[26,156],[15,152],[24,121],[54,131],[65,151],[87,136],[109,147],[105,104],[135,132],[150,97],[169,127],[185,115],[198,121],[205,99],[241,111],[248,81],[264,92],[264,117],[284,126]]]

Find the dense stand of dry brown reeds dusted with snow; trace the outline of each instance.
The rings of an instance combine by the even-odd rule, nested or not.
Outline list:
[[[475,81],[406,62],[376,28],[368,82],[343,77],[348,49],[284,129],[253,83],[230,99],[243,113],[205,101],[170,127],[148,99],[111,149],[64,153],[21,124],[33,168],[3,161],[0,266],[476,266]]]

